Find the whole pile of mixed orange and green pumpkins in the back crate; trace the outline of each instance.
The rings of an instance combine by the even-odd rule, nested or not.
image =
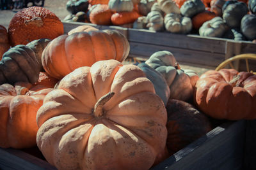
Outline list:
[[[255,0],[69,0],[64,20],[253,41],[255,9]]]

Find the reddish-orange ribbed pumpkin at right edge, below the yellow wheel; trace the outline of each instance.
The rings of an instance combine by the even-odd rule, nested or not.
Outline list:
[[[196,82],[195,101],[200,110],[213,118],[255,119],[256,75],[235,69],[207,71]]]

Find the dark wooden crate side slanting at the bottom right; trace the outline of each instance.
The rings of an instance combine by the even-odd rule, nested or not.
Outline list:
[[[229,122],[216,127],[152,169],[242,169],[244,137],[245,121]]]

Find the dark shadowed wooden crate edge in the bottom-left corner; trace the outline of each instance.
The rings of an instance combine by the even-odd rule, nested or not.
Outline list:
[[[34,157],[21,150],[13,148],[0,148],[0,169],[24,169],[24,170],[40,170],[49,169],[56,170],[56,167],[51,166],[48,162]]]

